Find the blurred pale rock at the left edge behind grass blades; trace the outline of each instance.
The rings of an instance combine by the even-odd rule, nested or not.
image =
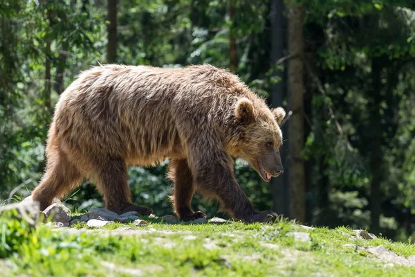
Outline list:
[[[29,226],[39,224],[39,202],[21,202],[0,207],[2,217],[17,218],[28,222]]]

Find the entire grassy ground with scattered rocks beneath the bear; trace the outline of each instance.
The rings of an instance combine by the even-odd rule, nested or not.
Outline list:
[[[183,223],[173,215],[118,215],[104,208],[71,215],[59,201],[40,217],[38,209],[30,197],[0,208],[0,276],[415,274],[412,244],[365,230],[217,217]]]

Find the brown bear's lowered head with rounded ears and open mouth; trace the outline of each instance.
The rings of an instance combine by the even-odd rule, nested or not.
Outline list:
[[[257,104],[241,98],[235,105],[234,113],[241,126],[237,157],[248,161],[262,179],[270,181],[284,172],[279,154],[282,147],[279,126],[286,113],[282,107],[268,109],[264,102]]]

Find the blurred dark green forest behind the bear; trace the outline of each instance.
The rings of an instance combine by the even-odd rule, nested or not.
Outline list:
[[[80,71],[210,63],[289,111],[283,176],[266,184],[236,163],[258,209],[407,241],[414,61],[411,0],[0,0],[0,199],[37,185],[53,107]],[[159,214],[172,213],[167,163],[129,170],[134,201]],[[66,203],[81,211],[102,199],[84,181]],[[198,197],[193,205],[217,213]]]

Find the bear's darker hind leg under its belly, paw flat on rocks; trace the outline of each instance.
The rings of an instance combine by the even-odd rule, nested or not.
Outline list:
[[[116,213],[136,211],[142,215],[150,215],[151,208],[136,206],[131,202],[131,191],[128,186],[127,165],[120,158],[100,161],[97,175],[97,187],[104,194],[106,208]]]

